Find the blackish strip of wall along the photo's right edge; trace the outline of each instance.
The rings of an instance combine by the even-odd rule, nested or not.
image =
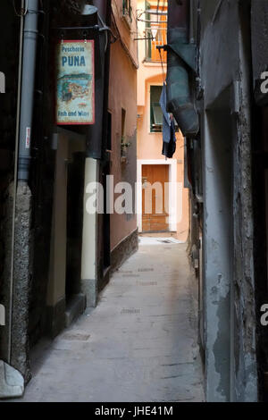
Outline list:
[[[267,141],[267,95],[262,94],[260,80],[263,71],[268,70],[268,2],[265,0],[252,1],[251,16],[251,44],[253,62],[253,87],[255,89],[254,132],[253,132],[253,169],[254,169],[254,212],[255,212],[255,282],[256,306],[259,308],[268,301],[267,262],[267,170],[265,169],[264,153],[268,151]],[[266,246],[265,246],[266,244]],[[258,323],[258,372],[260,399],[267,401],[267,372],[268,334],[267,327]]]

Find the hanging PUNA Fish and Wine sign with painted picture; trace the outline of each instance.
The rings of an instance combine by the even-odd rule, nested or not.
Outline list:
[[[56,57],[57,124],[94,124],[94,41],[63,40],[58,45]]]

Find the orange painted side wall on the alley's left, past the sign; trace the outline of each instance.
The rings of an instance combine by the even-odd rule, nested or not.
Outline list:
[[[132,23],[122,17],[122,1],[113,0],[113,33],[117,41],[111,47],[109,111],[112,113],[112,166],[114,185],[127,181],[135,190],[137,181],[137,68],[136,1],[131,1]],[[126,111],[125,140],[127,162],[121,162],[121,109]],[[116,198],[117,196],[115,196]],[[111,249],[137,229],[137,217],[131,214],[111,214]]]

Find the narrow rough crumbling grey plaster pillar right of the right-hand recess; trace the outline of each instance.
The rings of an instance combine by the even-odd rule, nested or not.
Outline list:
[[[241,401],[258,399],[256,371],[257,308],[253,256],[250,4],[239,7],[239,116],[234,142],[235,392]],[[238,333],[239,332],[239,333]],[[236,340],[237,339],[237,340]]]

